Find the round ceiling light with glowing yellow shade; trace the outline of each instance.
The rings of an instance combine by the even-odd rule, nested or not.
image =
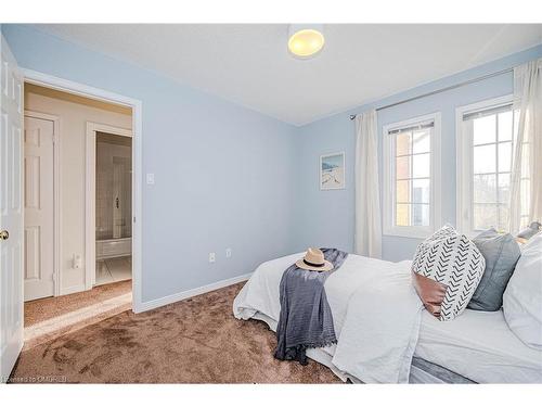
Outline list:
[[[317,55],[324,47],[322,24],[291,24],[288,29],[288,50],[299,59]]]

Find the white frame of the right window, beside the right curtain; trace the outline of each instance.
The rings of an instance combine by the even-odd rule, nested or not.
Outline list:
[[[457,230],[468,237],[479,233],[473,225],[473,137],[467,133],[463,116],[491,107],[504,106],[514,101],[513,94],[487,99],[455,109],[455,165],[456,165],[456,213]],[[514,145],[514,144],[513,144]],[[515,148],[515,147],[514,147]]]

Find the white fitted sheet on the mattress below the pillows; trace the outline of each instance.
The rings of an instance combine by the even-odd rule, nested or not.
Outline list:
[[[526,346],[502,310],[466,309],[447,322],[424,310],[414,356],[478,383],[542,383],[542,351]]]

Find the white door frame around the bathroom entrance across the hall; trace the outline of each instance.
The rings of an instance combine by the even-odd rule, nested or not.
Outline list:
[[[85,288],[92,289],[96,279],[96,131],[115,136],[129,137],[133,141],[133,131],[122,127],[87,122],[86,169],[85,169]],[[132,143],[133,151],[133,143]],[[133,158],[133,153],[132,153]],[[132,165],[133,167],[133,165]],[[134,177],[132,171],[132,191]],[[133,199],[133,195],[132,195]],[[132,207],[133,209],[133,207]],[[133,233],[132,233],[133,237]],[[133,242],[132,242],[133,243]],[[133,255],[133,250],[132,250]],[[133,264],[133,262],[132,262]],[[133,267],[132,267],[133,274]]]

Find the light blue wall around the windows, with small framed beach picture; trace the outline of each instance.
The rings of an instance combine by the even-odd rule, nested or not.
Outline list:
[[[296,195],[297,227],[294,250],[302,250],[309,245],[338,246],[347,251],[353,247],[354,124],[349,119],[350,114],[500,72],[541,55],[542,46],[539,46],[299,128],[296,138],[296,183],[299,193]],[[383,126],[437,111],[441,112],[442,222],[455,224],[455,109],[512,92],[513,75],[505,73],[378,112],[379,149]],[[341,191],[320,191],[319,156],[337,151],[346,152],[347,188]],[[379,157],[379,173],[382,174],[382,154]],[[412,258],[418,243],[418,239],[384,236],[383,257],[389,260]]]

